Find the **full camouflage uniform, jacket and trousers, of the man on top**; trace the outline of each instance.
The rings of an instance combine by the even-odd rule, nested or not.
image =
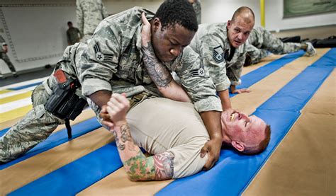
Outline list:
[[[118,13],[99,25],[89,45],[77,43],[67,47],[55,69],[62,69],[69,78],[76,79],[79,76],[82,91],[77,90],[77,95],[89,96],[100,90],[126,93],[131,107],[145,98],[161,96],[141,61],[142,11],[149,18],[153,16],[153,13],[142,8]],[[203,69],[198,54],[190,47],[186,47],[174,62],[165,65],[180,77],[182,86],[194,100],[198,112],[221,111],[215,86]],[[32,96],[33,110],[0,138],[0,162],[18,158],[43,142],[58,125],[65,123],[44,108],[56,83],[55,77],[51,75],[43,85],[35,88]],[[100,108],[90,99],[87,100],[98,115]]]

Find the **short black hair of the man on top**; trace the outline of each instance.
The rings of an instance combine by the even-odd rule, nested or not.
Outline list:
[[[157,9],[154,18],[159,18],[162,30],[167,26],[179,24],[196,32],[198,23],[193,6],[186,0],[167,0]]]

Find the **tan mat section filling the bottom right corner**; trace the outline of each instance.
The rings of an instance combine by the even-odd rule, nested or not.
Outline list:
[[[243,195],[335,195],[335,79],[334,69]]]

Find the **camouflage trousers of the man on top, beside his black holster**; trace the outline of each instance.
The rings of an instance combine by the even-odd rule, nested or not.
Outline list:
[[[67,47],[55,70],[62,69],[68,79],[76,79],[78,71],[74,62],[78,61],[85,46],[83,43],[77,43]],[[0,138],[0,163],[6,163],[26,153],[47,139],[58,125],[65,124],[65,120],[45,110],[45,103],[56,85],[57,80],[52,73],[46,81],[34,89],[31,96],[33,109]],[[77,95],[82,96],[80,88],[77,89]]]

